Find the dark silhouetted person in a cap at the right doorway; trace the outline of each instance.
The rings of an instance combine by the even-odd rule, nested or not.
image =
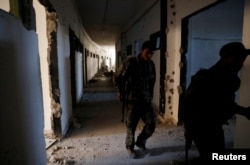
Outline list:
[[[242,43],[228,43],[221,48],[215,65],[192,76],[183,105],[186,147],[193,141],[201,160],[211,160],[211,153],[225,151],[222,126],[229,119],[235,114],[250,119],[250,108],[235,102],[240,87],[238,73],[248,54]]]

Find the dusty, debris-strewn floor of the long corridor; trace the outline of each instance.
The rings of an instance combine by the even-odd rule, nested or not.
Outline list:
[[[81,127],[72,126],[65,138],[47,149],[48,165],[170,165],[185,160],[183,127],[166,123],[158,123],[147,141],[149,157],[129,159],[124,147],[126,129],[120,121],[120,107],[109,78],[100,76],[92,81],[85,88],[81,104],[74,110]],[[140,123],[136,134],[142,126]],[[229,147],[232,146],[233,128],[233,122],[225,126]],[[197,155],[193,146],[189,158]]]

